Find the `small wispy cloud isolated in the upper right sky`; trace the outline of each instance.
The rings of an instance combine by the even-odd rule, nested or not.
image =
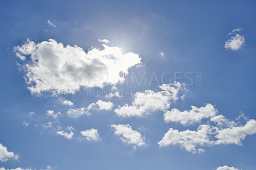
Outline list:
[[[242,28],[239,27],[237,29],[233,29],[231,33],[228,33],[228,36],[231,36],[230,39],[225,42],[225,49],[231,49],[231,50],[238,50],[240,49],[245,42],[245,39],[243,36],[237,34],[237,31],[241,31]],[[232,36],[235,35],[235,36]]]

